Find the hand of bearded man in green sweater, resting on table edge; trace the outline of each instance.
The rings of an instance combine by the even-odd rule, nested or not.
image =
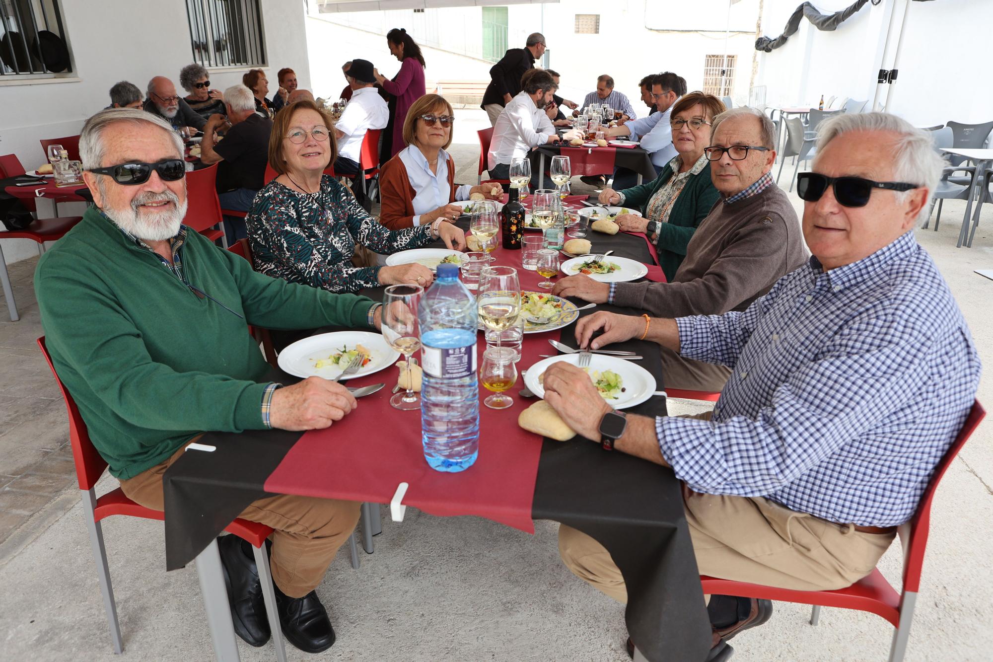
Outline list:
[[[276,389],[269,406],[269,424],[279,429],[323,429],[353,410],[355,397],[344,386],[308,377],[293,386]]]

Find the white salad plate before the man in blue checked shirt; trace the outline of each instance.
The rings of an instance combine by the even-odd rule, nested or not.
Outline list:
[[[561,354],[538,361],[527,369],[524,385],[538,398],[544,398],[545,371],[553,363],[560,361],[578,366],[579,354]],[[593,354],[590,356],[589,367],[581,370],[590,376],[601,398],[616,410],[640,405],[655,392],[655,378],[634,361]]]

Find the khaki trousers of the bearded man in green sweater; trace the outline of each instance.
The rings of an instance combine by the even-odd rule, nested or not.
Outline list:
[[[186,444],[165,462],[120,481],[121,490],[146,508],[165,510],[162,476],[184,450]],[[275,529],[272,580],[286,595],[303,597],[321,583],[338,549],[355,531],[358,508],[353,501],[279,495],[252,502],[238,517]]]

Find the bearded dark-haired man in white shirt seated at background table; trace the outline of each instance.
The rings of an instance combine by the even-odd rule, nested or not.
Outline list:
[[[494,125],[487,161],[491,178],[509,179],[512,159],[526,158],[532,147],[558,142],[555,127],[543,112],[556,89],[558,85],[547,72],[535,72],[527,79],[524,88],[500,112]],[[570,130],[563,139],[571,140],[578,136],[577,131]],[[532,168],[531,171],[531,186],[536,187],[537,168]]]

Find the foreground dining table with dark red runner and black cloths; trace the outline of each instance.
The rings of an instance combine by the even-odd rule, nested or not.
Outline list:
[[[466,229],[468,220],[458,224]],[[643,235],[591,231],[588,239],[593,252],[613,250],[649,264],[654,259]],[[520,268],[519,249],[499,247],[493,256],[497,264],[518,267],[522,289],[537,289],[539,276]],[[382,288],[360,293],[376,300],[383,294]],[[599,310],[640,313],[604,303],[577,316]],[[555,353],[549,339],[576,348],[575,321],[525,333],[519,366],[533,365],[541,353]],[[485,345],[481,335],[477,350],[482,353]],[[663,393],[658,345],[630,340],[612,349],[643,357],[638,365],[654,379],[653,393]],[[299,379],[275,370],[271,377],[282,384]],[[398,369],[389,366],[348,385],[389,385],[397,378]],[[703,660],[711,628],[681,486],[672,470],[604,451],[578,436],[563,442],[524,430],[517,416],[535,401],[520,395],[522,386],[518,380],[508,392],[514,400],[510,409],[480,407],[479,456],[460,473],[428,466],[419,414],[391,409],[388,389],[362,398],[360,408],[325,430],[209,431],[201,437],[199,444],[213,450],[188,450],[163,479],[166,561],[167,570],[177,570],[196,560],[216,658],[239,659],[215,539],[249,503],[272,494],[297,494],[389,504],[402,482],[408,485],[402,505],[432,515],[480,516],[494,526],[528,533],[534,532],[535,520],[552,520],[587,533],[610,551],[626,580],[625,618],[638,644],[636,659]],[[480,392],[486,396],[484,389]],[[652,395],[628,412],[665,415],[665,397]]]

